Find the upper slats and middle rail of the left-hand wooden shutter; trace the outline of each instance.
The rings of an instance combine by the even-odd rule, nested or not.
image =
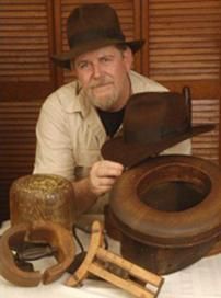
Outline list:
[[[0,100],[33,100],[54,88],[51,0],[1,0]]]

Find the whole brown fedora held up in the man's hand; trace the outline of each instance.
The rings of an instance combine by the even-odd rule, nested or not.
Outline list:
[[[175,92],[133,94],[126,106],[123,135],[104,144],[105,159],[131,168],[214,125],[191,125],[190,98]]]

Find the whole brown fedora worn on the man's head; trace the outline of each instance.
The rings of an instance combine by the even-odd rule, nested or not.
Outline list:
[[[89,50],[123,44],[136,53],[144,44],[144,41],[126,42],[115,10],[104,3],[83,4],[74,9],[68,18],[67,35],[70,50],[54,55],[53,60],[69,69],[71,59]]]

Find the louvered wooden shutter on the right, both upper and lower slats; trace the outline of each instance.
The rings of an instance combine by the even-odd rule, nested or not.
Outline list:
[[[143,0],[143,73],[193,93],[193,122],[216,129],[193,138],[193,153],[218,163],[220,144],[220,0]]]

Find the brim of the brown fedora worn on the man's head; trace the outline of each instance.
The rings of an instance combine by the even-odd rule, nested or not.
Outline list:
[[[144,41],[132,41],[132,42],[123,42],[119,39],[102,39],[102,41],[93,41],[85,44],[81,44],[74,48],[71,48],[69,51],[61,53],[58,55],[53,55],[51,59],[53,61],[67,69],[71,69],[70,60],[74,59],[81,54],[84,54],[90,50],[97,49],[100,47],[108,46],[108,45],[127,45],[131,48],[132,53],[135,54],[138,51],[144,44]]]

